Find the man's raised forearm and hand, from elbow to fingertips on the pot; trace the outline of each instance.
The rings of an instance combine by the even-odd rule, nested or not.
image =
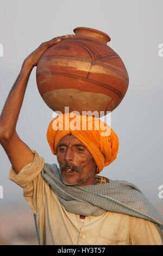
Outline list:
[[[0,139],[10,138],[16,129],[16,123],[20,109],[23,103],[24,93],[30,73],[34,66],[39,62],[40,57],[46,50],[58,44],[62,39],[72,38],[74,35],[63,35],[58,38],[53,38],[47,42],[43,42],[35,51],[24,60],[20,75],[18,75],[14,86],[11,88],[8,98],[3,107],[2,114],[0,116]]]

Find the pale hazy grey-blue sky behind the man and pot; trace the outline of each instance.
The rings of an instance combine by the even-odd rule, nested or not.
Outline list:
[[[111,114],[112,129],[120,140],[117,159],[101,175],[135,184],[156,209],[163,211],[163,199],[158,197],[158,187],[163,185],[163,57],[158,54],[163,43],[162,0],[1,0],[0,4],[0,111],[24,58],[41,42],[71,34],[78,26],[109,34],[108,45],[126,65],[129,88]],[[16,130],[45,162],[54,163],[57,158],[46,140],[53,112],[37,90],[35,74],[36,68],[29,78]],[[9,204],[26,205],[22,188],[8,179],[11,164],[1,146],[0,157],[1,209]]]

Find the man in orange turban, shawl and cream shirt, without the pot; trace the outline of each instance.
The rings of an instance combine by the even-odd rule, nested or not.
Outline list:
[[[41,44],[24,60],[5,102],[0,141],[12,164],[9,179],[23,188],[41,245],[162,245],[159,225],[163,218],[139,188],[97,175],[118,152],[116,133],[110,129],[109,136],[101,136],[101,126],[95,129],[99,119],[92,118],[92,130],[65,129],[65,114],[51,121],[47,139],[60,169],[57,164],[45,163],[17,135],[30,72],[48,47],[69,36],[73,35]],[[77,118],[83,120],[80,115]],[[69,113],[68,120],[72,120]],[[63,129],[55,130],[54,121]],[[88,117],[85,122],[88,124]]]

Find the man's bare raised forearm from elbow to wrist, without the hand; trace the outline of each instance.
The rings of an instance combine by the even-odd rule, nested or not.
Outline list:
[[[1,136],[10,137],[15,131],[18,115],[20,113],[32,69],[32,65],[24,61],[21,72],[10,90],[0,116]]]

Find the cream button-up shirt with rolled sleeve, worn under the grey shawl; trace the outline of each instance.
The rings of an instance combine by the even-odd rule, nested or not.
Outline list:
[[[162,245],[155,225],[142,218],[105,211],[100,216],[68,212],[42,178],[44,159],[35,150],[33,162],[9,179],[23,188],[23,196],[36,214],[41,245]]]

